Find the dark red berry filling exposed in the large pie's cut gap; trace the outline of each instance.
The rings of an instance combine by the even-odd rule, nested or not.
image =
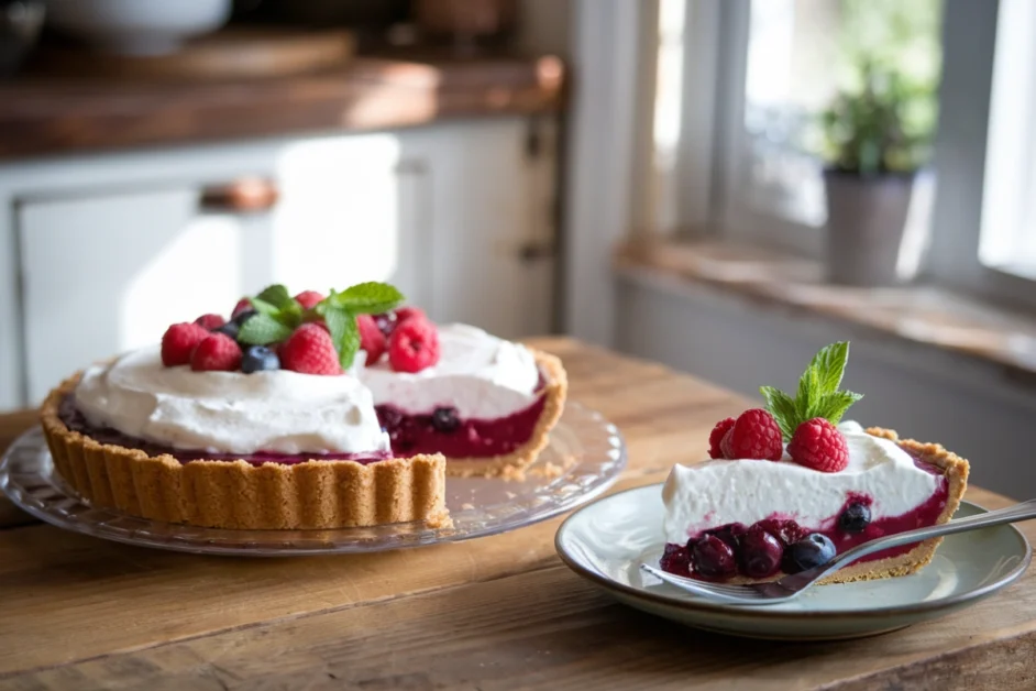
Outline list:
[[[382,428],[396,453],[442,453],[449,458],[485,458],[511,453],[532,438],[543,414],[541,395],[527,408],[494,419],[459,418],[452,407],[410,415],[393,405],[376,406]]]

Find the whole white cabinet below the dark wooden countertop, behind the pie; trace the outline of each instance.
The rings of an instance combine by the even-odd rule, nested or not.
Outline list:
[[[440,321],[549,331],[554,129],[532,127],[502,118],[0,168],[0,201],[14,210],[0,234],[20,275],[20,304],[0,307],[22,321],[19,355],[0,359],[0,383],[20,391],[0,407],[38,403],[90,361],[275,282],[389,281]],[[252,175],[275,184],[272,208],[202,204],[206,189]]]

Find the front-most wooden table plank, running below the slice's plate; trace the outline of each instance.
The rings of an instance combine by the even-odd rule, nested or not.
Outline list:
[[[1031,580],[1031,579],[1029,579]],[[1011,606],[1005,607],[1005,599]],[[301,616],[44,670],[26,688],[133,687],[550,689],[888,688],[939,660],[940,689],[1032,689],[1036,589],[913,627],[828,644],[745,641],[696,632],[614,603],[554,566],[459,589]],[[979,635],[970,635],[981,632]],[[1017,647],[996,647],[1003,636]],[[989,654],[979,656],[978,652]],[[995,662],[995,663],[994,663]],[[893,676],[884,670],[903,669]],[[948,672],[952,672],[949,676]],[[638,679],[630,684],[631,679]],[[930,680],[929,680],[930,681]],[[221,685],[224,684],[224,685]],[[934,687],[928,687],[934,688]]]

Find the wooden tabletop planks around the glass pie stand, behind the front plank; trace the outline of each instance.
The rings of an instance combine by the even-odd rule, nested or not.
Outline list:
[[[537,346],[565,360],[573,398],[607,410],[627,434],[629,479],[620,486],[660,482],[674,453],[701,458],[715,420],[745,406],[658,364],[567,339]],[[626,395],[631,379],[648,399]],[[5,618],[20,622],[10,641],[0,624],[0,673],[542,568],[554,560],[558,523],[414,551],[258,561],[133,548],[45,525],[0,530]],[[191,607],[176,595],[183,592]],[[48,644],[55,629],[59,646]]]

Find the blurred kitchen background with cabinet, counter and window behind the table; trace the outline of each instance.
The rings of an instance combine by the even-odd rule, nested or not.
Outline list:
[[[387,279],[750,396],[850,339],[1036,494],[1032,0],[0,0],[0,408]]]

